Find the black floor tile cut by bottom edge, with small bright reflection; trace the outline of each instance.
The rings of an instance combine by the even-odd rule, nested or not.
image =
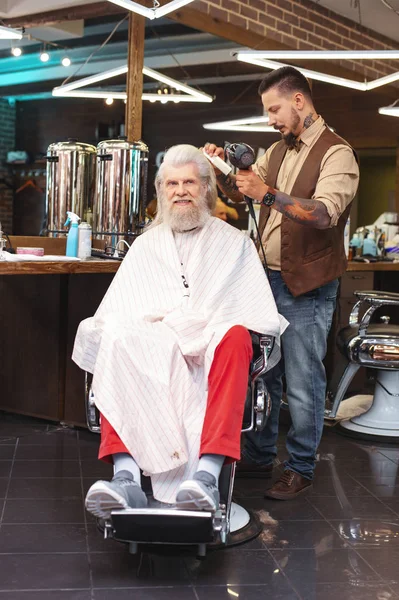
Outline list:
[[[265,585],[224,585],[196,587],[198,600],[298,600],[292,587],[281,578]]]

